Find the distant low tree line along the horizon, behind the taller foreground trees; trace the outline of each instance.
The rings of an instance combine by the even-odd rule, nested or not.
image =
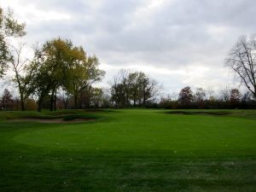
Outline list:
[[[119,74],[123,73],[124,70],[119,72]],[[125,71],[125,73],[128,72]],[[131,77],[134,73],[142,72],[131,72],[127,77]],[[116,79],[116,77],[114,77],[113,80],[114,79]],[[139,85],[125,84],[123,80],[119,81],[119,83],[115,82],[112,84],[110,90],[102,90],[101,88],[94,88],[92,86],[87,87],[81,92],[81,96],[79,97],[79,108],[256,108],[253,95],[249,91],[242,94],[241,91],[236,88],[225,88],[219,91],[218,96],[215,96],[212,90],[204,90],[202,88],[192,90],[189,86],[186,86],[180,90],[177,96],[160,97],[159,84],[154,86],[154,89],[157,90],[156,92],[151,92],[148,95],[147,89],[145,89],[141,90],[142,95],[140,95],[138,91],[140,89]],[[148,87],[150,87],[150,85],[152,84],[148,84]],[[6,110],[20,109],[20,99],[12,96],[9,90],[4,90],[0,97],[0,108]],[[44,98],[42,108],[49,108],[50,101],[51,95],[49,94]],[[25,100],[25,106],[26,109],[36,109],[38,103],[32,98],[27,98]],[[55,108],[75,108],[74,97],[67,92],[61,91],[60,94],[55,97]]]

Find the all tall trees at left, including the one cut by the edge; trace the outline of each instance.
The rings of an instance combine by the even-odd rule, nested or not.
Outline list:
[[[9,38],[24,35],[25,24],[18,23],[10,10],[4,13],[0,9],[0,78],[8,69],[13,71],[11,80],[19,92],[20,109],[25,110],[26,100],[36,98],[39,112],[46,101],[51,111],[56,110],[61,93],[73,98],[73,108],[81,108],[84,93],[105,73],[99,69],[96,55],[87,55],[69,39],[53,38],[36,47],[31,60],[23,60],[24,45],[11,46]]]

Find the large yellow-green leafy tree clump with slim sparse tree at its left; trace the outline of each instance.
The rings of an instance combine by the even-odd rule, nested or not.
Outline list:
[[[73,108],[80,108],[82,96],[90,86],[100,81],[104,71],[98,68],[96,55],[86,55],[82,47],[67,39],[54,38],[34,50],[32,61],[20,62],[21,48],[12,57],[15,72],[13,82],[20,95],[20,108],[30,96],[37,97],[38,111],[49,99],[49,109],[56,110],[60,92],[73,97]]]

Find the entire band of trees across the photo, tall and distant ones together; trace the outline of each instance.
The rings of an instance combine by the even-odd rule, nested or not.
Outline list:
[[[104,77],[96,55],[88,55],[72,40],[52,38],[33,49],[33,57],[24,59],[25,45],[11,41],[26,35],[26,25],[15,20],[11,10],[0,8],[0,79],[12,71],[12,83],[18,96],[4,90],[2,109],[56,110],[57,108],[255,108],[256,40],[239,38],[225,60],[247,87],[247,93],[221,90],[219,96],[207,96],[202,88],[180,90],[177,98],[160,97],[161,86],[147,74],[120,70],[109,82],[110,88],[94,87]]]

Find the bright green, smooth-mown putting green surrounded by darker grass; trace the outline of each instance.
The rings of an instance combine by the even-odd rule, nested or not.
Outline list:
[[[183,115],[161,110],[119,110],[82,124],[53,125],[13,137],[16,143],[85,153],[243,156],[256,154],[256,121]],[[40,124],[38,124],[40,125]]]

